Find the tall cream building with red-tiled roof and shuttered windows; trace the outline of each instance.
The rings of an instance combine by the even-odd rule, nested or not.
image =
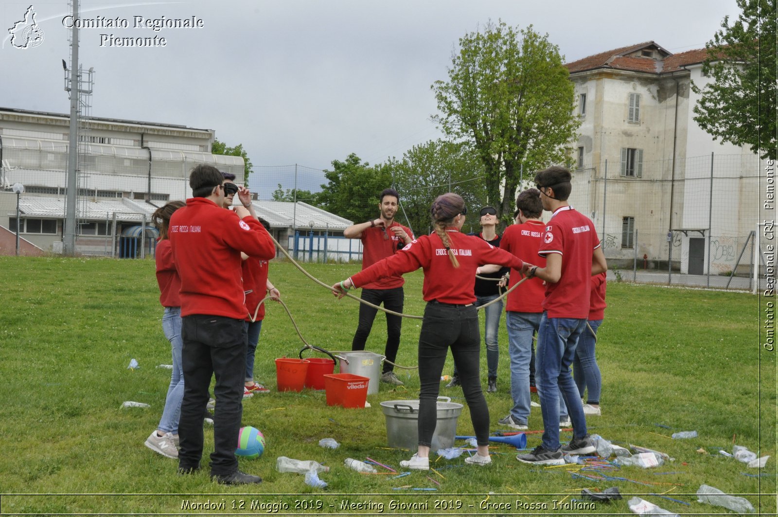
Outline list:
[[[648,41],[566,65],[582,121],[570,202],[594,220],[614,264],[645,256],[682,273],[731,271],[762,220],[759,158],[693,119],[690,84],[709,80],[706,55]],[[750,263],[746,252],[739,267]]]

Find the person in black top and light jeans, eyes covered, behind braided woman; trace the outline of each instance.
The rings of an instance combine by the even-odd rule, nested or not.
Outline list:
[[[492,244],[495,248],[499,248],[500,236],[497,234],[497,210],[493,206],[484,206],[480,213],[481,231],[468,234],[478,237],[483,241]],[[475,278],[475,306],[488,304],[490,301],[499,297],[499,279],[509,269],[500,268],[493,273],[478,273]],[[478,278],[482,276],[483,278]],[[485,280],[489,279],[489,280]],[[493,279],[493,280],[492,280]],[[486,343],[486,367],[487,367],[487,392],[497,391],[497,362],[499,360],[499,344],[497,343],[497,332],[499,331],[499,318],[503,314],[503,301],[498,301],[489,307],[484,309],[485,313],[485,328],[484,339]],[[454,367],[454,375],[452,375],[451,382],[446,387],[451,388],[460,385],[460,379],[457,372],[457,368]]]

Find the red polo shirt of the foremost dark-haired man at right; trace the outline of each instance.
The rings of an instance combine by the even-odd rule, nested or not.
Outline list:
[[[591,297],[591,255],[600,247],[594,223],[571,206],[556,209],[545,225],[538,255],[562,255],[562,276],[546,283],[543,310],[548,318],[585,319]]]

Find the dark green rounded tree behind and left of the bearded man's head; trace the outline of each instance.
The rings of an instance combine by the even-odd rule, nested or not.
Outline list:
[[[332,171],[324,171],[327,185],[317,194],[319,206],[335,215],[361,223],[378,216],[378,196],[391,187],[391,174],[370,167],[356,154],[345,161],[332,160]]]

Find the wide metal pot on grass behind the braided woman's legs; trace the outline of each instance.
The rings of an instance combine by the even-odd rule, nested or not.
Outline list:
[[[431,448],[454,447],[457,434],[457,418],[462,413],[461,404],[449,397],[438,397],[437,424]],[[441,402],[440,399],[443,399]],[[407,448],[415,452],[419,446],[419,400],[387,400],[381,403],[387,420],[387,442],[390,447]]]

